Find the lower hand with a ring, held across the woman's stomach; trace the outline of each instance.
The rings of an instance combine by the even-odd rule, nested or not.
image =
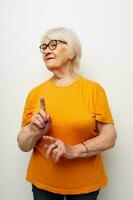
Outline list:
[[[67,159],[77,158],[81,151],[84,151],[82,144],[68,146],[62,140],[51,136],[43,136],[43,139],[50,142],[50,144],[44,145],[44,147],[47,148],[46,159],[48,159],[51,154],[55,162],[58,162],[61,157]]]

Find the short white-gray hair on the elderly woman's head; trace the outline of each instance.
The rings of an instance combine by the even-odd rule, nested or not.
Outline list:
[[[43,34],[41,44],[44,43],[46,37],[67,42],[69,55],[72,56],[72,65],[76,68],[79,67],[82,49],[80,40],[74,31],[64,27],[49,29]]]

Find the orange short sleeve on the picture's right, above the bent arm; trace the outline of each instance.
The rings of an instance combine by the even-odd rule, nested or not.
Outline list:
[[[97,121],[114,124],[105,90],[97,84],[95,93],[95,117]]]

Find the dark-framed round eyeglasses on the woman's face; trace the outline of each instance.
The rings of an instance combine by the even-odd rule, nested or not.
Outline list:
[[[41,44],[40,47],[39,47],[41,53],[44,54],[47,47],[49,47],[50,50],[55,50],[56,47],[57,47],[57,44],[60,43],[60,42],[67,44],[67,42],[62,41],[62,40],[50,40],[50,42],[48,44]]]

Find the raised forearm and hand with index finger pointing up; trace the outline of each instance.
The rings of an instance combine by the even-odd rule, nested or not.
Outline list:
[[[50,128],[51,117],[46,114],[44,98],[40,97],[38,113],[33,116],[29,124],[21,128],[17,136],[19,148],[24,152],[30,151],[49,132]]]

